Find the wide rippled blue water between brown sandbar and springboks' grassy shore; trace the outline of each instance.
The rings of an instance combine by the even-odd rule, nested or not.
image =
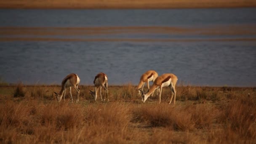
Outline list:
[[[1,43],[1,75],[8,82],[58,84],[72,72],[91,84],[105,72],[109,84],[137,84],[155,69],[171,72],[192,85],[256,84],[256,50],[248,43]],[[47,45],[47,47],[45,46]]]

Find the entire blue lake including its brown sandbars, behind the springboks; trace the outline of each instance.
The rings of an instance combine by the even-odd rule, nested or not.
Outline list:
[[[61,84],[138,84],[149,69],[178,82],[256,86],[256,8],[0,10],[0,77]]]

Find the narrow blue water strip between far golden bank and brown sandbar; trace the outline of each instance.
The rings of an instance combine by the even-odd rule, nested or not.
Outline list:
[[[0,10],[0,26],[199,26],[250,24],[256,8],[160,9],[160,10]]]

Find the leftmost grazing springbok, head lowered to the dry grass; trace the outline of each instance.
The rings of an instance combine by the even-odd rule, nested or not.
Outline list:
[[[69,75],[67,75],[67,77],[65,77],[62,80],[61,91],[59,93],[54,92],[57,95],[58,101],[59,102],[61,101],[63,93],[64,93],[64,100],[65,100],[66,88],[69,88],[70,89],[71,99],[72,99],[72,102],[73,102],[71,87],[74,87],[75,90],[77,91],[77,100],[76,100],[76,102],[78,102],[79,101],[79,93],[80,93],[80,90],[78,89],[78,84],[79,83],[80,83],[80,78],[78,77],[78,75],[76,75],[76,74],[69,74]]]

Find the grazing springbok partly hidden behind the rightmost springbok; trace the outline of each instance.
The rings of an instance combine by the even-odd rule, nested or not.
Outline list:
[[[158,77],[158,74],[154,70],[149,70],[149,71],[145,72],[143,75],[141,75],[141,79],[139,81],[137,89],[138,90],[141,89],[141,91],[143,91],[145,83],[147,83],[147,88],[149,89],[149,81],[154,82],[157,77]],[[140,91],[139,91],[139,93],[140,93]]]

